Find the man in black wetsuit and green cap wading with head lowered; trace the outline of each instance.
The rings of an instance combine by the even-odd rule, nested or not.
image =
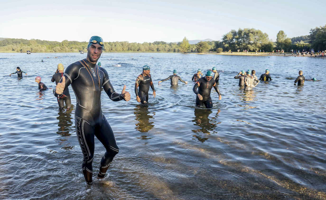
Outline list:
[[[213,76],[214,73],[212,71],[207,71],[206,76],[198,79],[198,81],[195,83],[192,90],[195,94],[197,94],[197,106],[205,104],[206,108],[213,108],[213,102],[211,98],[211,90],[213,87],[218,94],[218,99],[222,99],[222,95],[217,87],[217,84],[215,83],[215,80],[213,79]],[[199,88],[198,91],[197,88]]]

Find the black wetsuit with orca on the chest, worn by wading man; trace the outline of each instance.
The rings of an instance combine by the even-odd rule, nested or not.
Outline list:
[[[139,86],[139,89],[138,89]],[[135,93],[136,96],[141,98],[141,103],[146,104],[148,102],[148,91],[149,86],[151,86],[152,90],[155,91],[154,85],[152,82],[152,77],[149,74],[148,76],[144,76],[143,74],[139,75],[136,79],[135,83]]]

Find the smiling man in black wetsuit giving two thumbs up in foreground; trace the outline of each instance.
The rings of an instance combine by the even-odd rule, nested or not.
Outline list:
[[[76,95],[75,125],[76,134],[83,153],[82,172],[87,184],[92,184],[94,136],[106,149],[97,174],[98,179],[104,178],[113,157],[119,152],[113,131],[101,109],[101,88],[112,101],[130,100],[130,94],[125,91],[116,93],[111,85],[108,72],[99,67],[96,62],[103,50],[103,40],[92,36],[87,45],[87,58],[70,64],[54,91],[61,97],[71,84]]]

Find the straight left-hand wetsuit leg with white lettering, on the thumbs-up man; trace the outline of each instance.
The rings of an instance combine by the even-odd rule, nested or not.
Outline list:
[[[86,183],[93,183],[94,127],[84,119],[75,116],[76,134],[83,153],[82,172]]]

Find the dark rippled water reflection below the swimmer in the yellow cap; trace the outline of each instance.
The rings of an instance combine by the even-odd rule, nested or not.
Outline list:
[[[71,132],[75,130],[75,127],[72,126],[72,117],[71,110],[67,110],[66,112],[62,109],[59,109],[57,120],[58,120],[58,131],[57,134],[60,135],[58,139],[56,139],[59,145],[63,145],[61,149],[72,149],[74,146],[70,146],[68,142],[69,136],[71,136]]]

